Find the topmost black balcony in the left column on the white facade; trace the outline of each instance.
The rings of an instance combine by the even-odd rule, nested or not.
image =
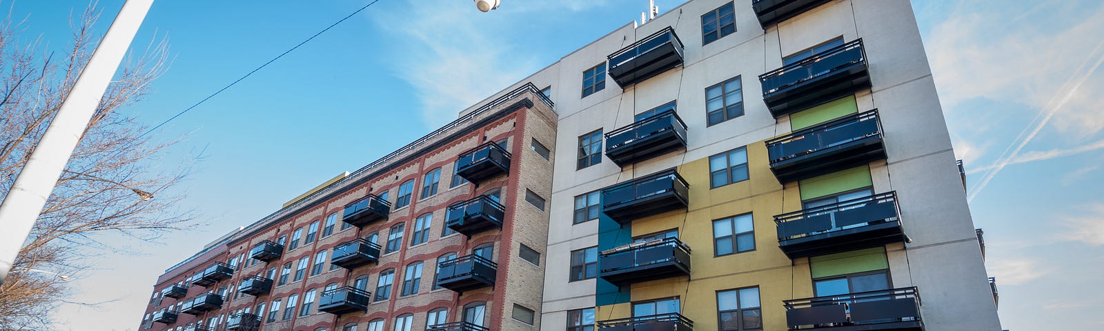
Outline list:
[[[682,41],[667,26],[609,54],[607,72],[622,88],[682,65]]]

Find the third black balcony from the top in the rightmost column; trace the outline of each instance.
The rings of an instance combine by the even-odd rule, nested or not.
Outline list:
[[[783,183],[885,159],[877,109],[771,139],[766,149],[771,171]]]

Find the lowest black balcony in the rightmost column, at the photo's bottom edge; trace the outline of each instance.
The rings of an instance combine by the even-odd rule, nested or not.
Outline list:
[[[915,287],[783,301],[789,330],[924,330]]]

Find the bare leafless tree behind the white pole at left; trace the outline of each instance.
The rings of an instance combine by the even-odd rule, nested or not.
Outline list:
[[[39,39],[20,40],[23,22],[11,17],[0,22],[0,196],[7,196],[95,50],[97,19],[89,7],[71,20],[72,44],[61,55],[40,50]],[[66,302],[72,276],[64,275],[79,275],[89,252],[118,248],[97,234],[152,241],[189,222],[188,213],[173,210],[181,196],[166,192],[184,171],[156,167],[168,145],[142,137],[145,128],[117,111],[149,93],[167,67],[167,53],[163,40],[149,44],[142,55],[128,56],[112,82],[0,286],[0,330],[46,328],[50,312]]]

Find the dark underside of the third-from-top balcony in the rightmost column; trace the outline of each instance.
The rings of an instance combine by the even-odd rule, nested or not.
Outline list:
[[[771,163],[778,182],[786,183],[885,159],[882,136],[857,139],[808,154]]]

